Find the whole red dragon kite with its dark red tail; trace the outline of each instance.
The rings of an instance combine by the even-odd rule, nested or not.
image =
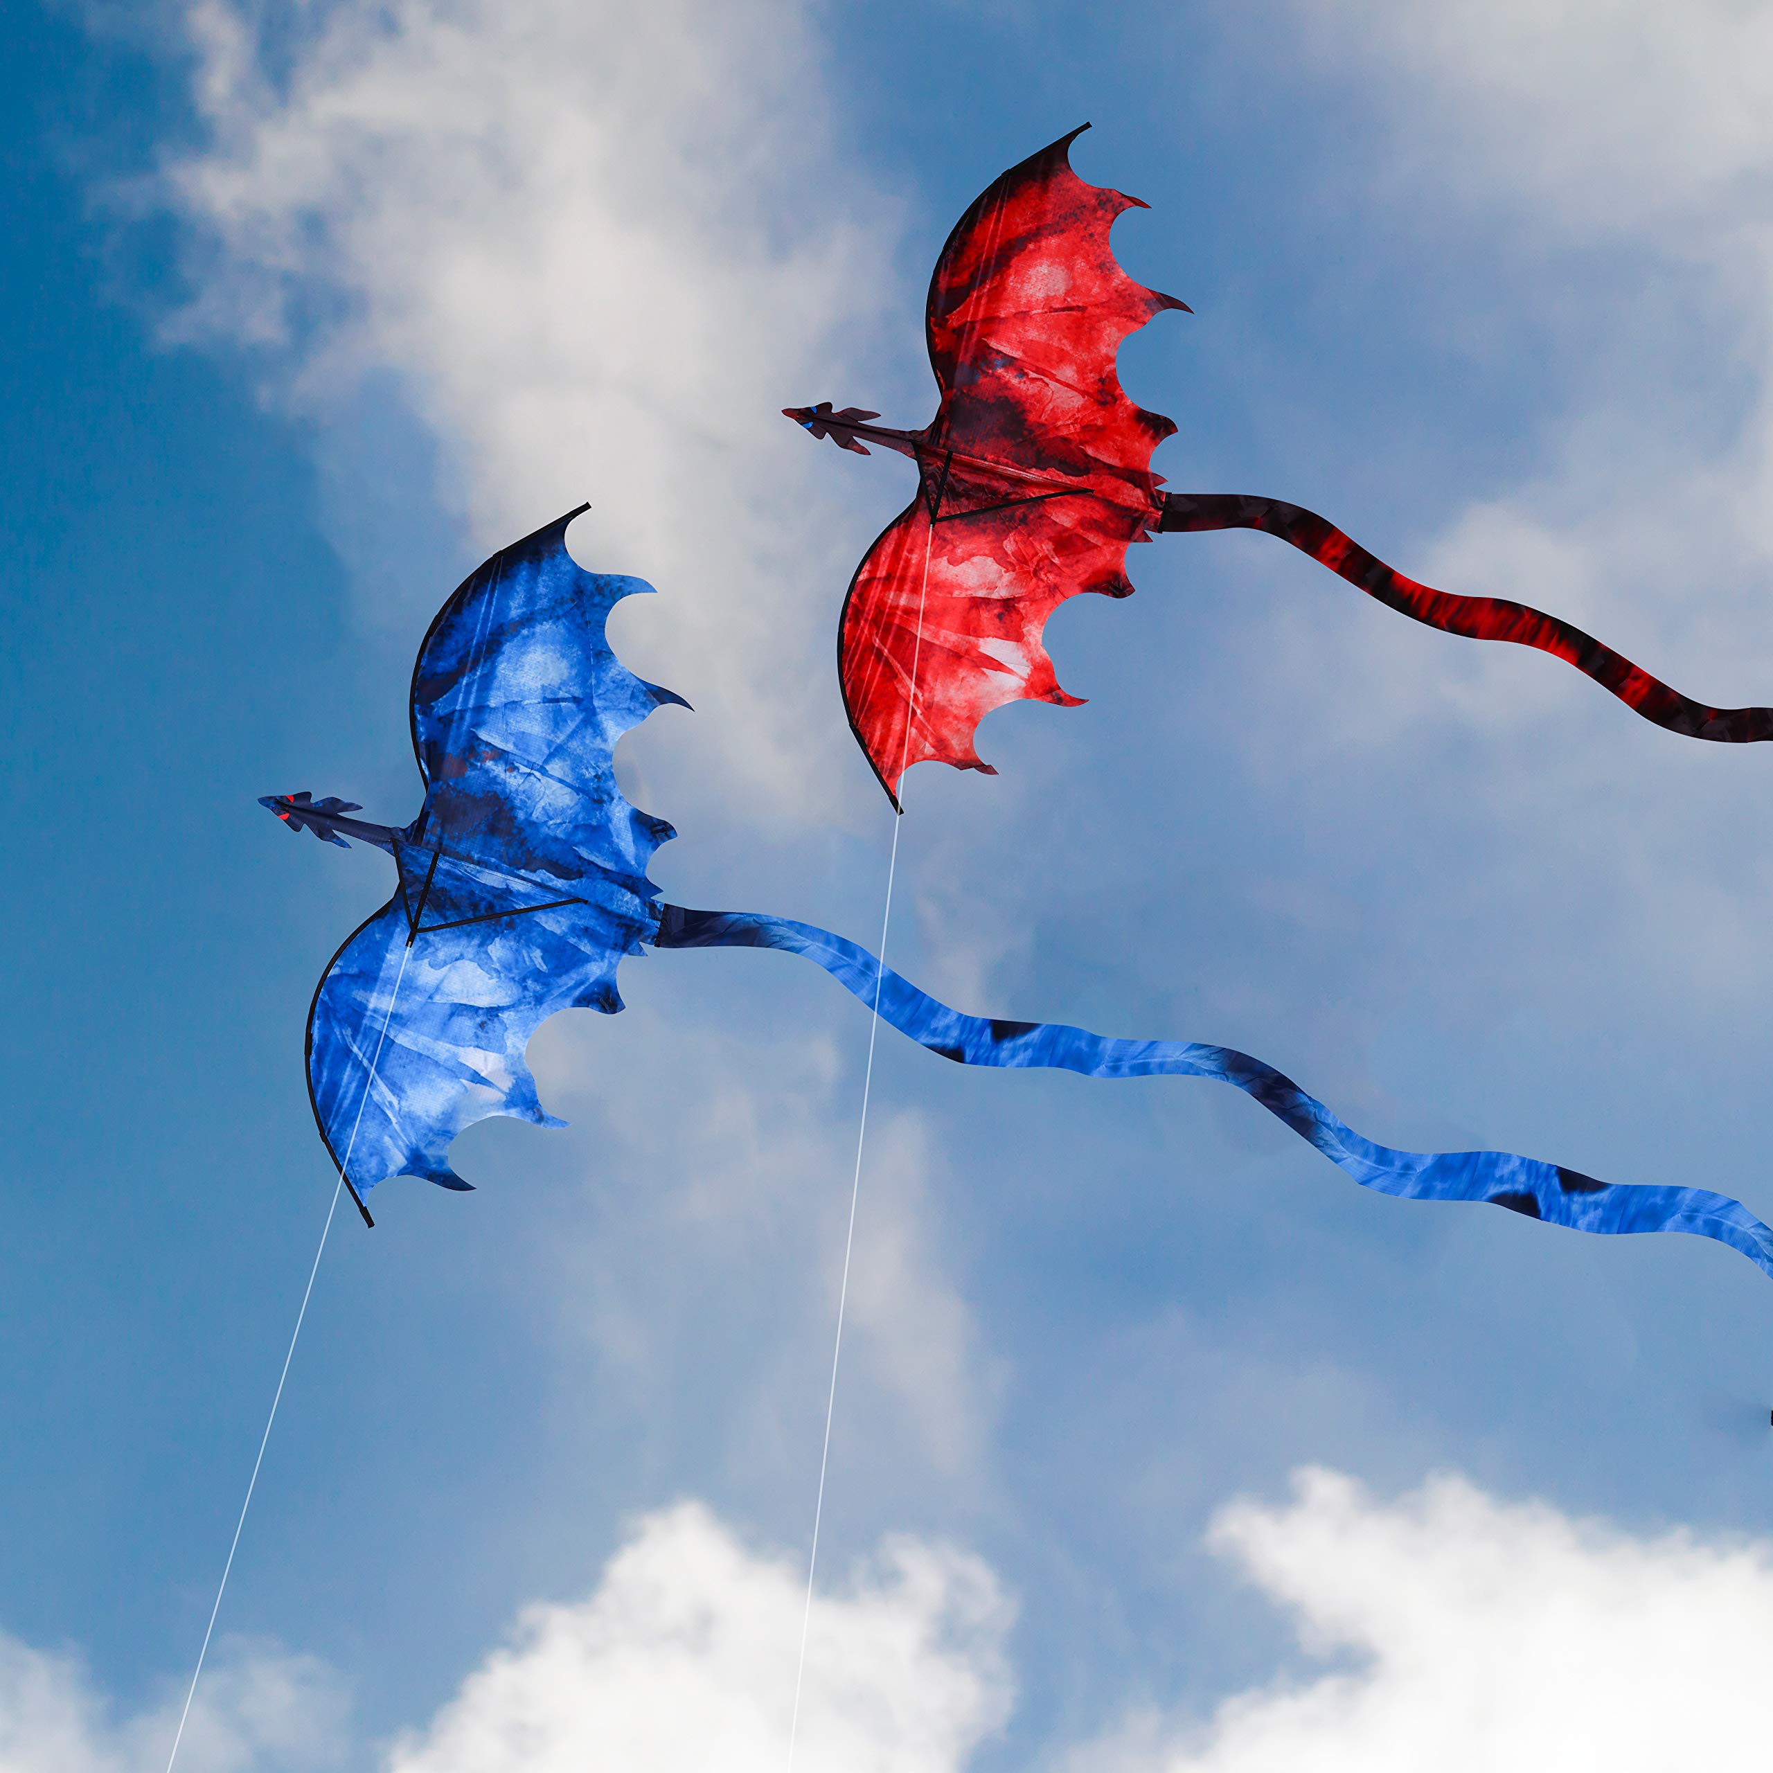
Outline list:
[[[1128,399],[1115,355],[1186,303],[1115,262],[1115,218],[1145,206],[1071,170],[1078,135],[1005,172],[941,248],[926,305],[940,406],[926,429],[830,401],[784,408],[816,438],[918,466],[915,498],[856,567],[837,638],[849,725],[895,808],[904,771],[926,759],[995,773],[973,743],[995,707],[1078,704],[1043,645],[1048,615],[1085,590],[1128,596],[1126,550],[1167,530],[1262,530],[1429,628],[1551,652],[1670,732],[1773,738],[1769,707],[1704,706],[1555,615],[1418,585],[1301,505],[1161,491],[1151,456],[1175,426]]]

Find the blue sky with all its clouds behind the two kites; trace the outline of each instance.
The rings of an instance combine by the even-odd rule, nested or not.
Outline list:
[[[1773,700],[1773,11],[1624,0],[59,0],[0,144],[0,1773],[160,1768],[326,1218],[301,1030],[390,888],[411,656],[582,500],[667,899],[879,931],[832,668],[929,266],[1089,119],[1183,298],[1184,491],[1321,511]],[[1252,534],[1058,610],[1085,706],[906,780],[890,959],[1277,1064],[1374,1138],[1773,1218],[1759,746]],[[622,968],[332,1229],[179,1766],[775,1773],[867,1014]],[[1764,1764],[1773,1293],[1697,1238],[1355,1188],[1207,1083],[881,1035],[796,1766]]]

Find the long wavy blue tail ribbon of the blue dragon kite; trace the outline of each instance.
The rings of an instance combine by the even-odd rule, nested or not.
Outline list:
[[[1053,1066],[1087,1078],[1216,1078],[1254,1096],[1362,1188],[1404,1200],[1488,1200],[1571,1230],[1686,1230],[1741,1250],[1773,1275],[1773,1230],[1739,1200],[1704,1188],[1597,1183],[1505,1151],[1394,1151],[1344,1126],[1321,1101],[1261,1058],[1229,1046],[1183,1041],[1112,1041],[1051,1021],[963,1016],[881,966],[867,949],[812,924],[752,911],[661,908],[661,949],[785,949],[823,966],[846,991],[901,1034],[963,1066]],[[878,993],[878,998],[876,998]]]

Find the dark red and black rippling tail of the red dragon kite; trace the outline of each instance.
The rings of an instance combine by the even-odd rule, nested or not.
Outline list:
[[[1284,498],[1245,493],[1168,493],[1163,530],[1261,530],[1308,553],[1319,566],[1358,585],[1399,615],[1468,640],[1512,640],[1574,665],[1645,720],[1688,739],[1748,745],[1773,739],[1773,707],[1707,707],[1640,670],[1580,628],[1505,598],[1461,598],[1394,573],[1326,518]]]

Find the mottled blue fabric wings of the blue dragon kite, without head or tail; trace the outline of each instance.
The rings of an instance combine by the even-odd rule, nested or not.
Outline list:
[[[582,571],[574,516],[473,573],[413,670],[426,803],[387,832],[399,890],[309,1014],[314,1113],[360,1195],[390,1175],[466,1188],[449,1147],[488,1115],[558,1126],[535,1099],[530,1035],[555,1011],[621,1009],[617,963],[658,920],[647,865],[674,833],[622,798],[612,750],[681,697],[617,663],[608,612],[652,587]]]

